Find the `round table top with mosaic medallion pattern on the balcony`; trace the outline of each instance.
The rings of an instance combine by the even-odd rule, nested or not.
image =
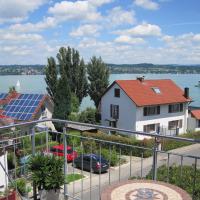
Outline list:
[[[108,187],[102,193],[101,200],[191,200],[191,197],[171,184],[135,180]]]

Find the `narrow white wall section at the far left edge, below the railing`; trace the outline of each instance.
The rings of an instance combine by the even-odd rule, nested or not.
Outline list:
[[[3,164],[3,167],[6,169],[6,172],[8,172],[7,167],[7,152],[5,155],[0,156],[0,162]],[[0,191],[3,192],[6,189],[6,183],[8,184],[8,177],[6,176],[4,170],[0,166]]]

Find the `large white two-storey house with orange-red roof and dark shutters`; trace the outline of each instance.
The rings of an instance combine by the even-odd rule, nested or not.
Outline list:
[[[147,133],[181,134],[187,130],[190,102],[189,89],[183,91],[172,80],[116,80],[101,98],[101,123]]]

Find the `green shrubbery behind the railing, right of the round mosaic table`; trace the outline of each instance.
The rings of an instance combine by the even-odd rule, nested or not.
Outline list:
[[[194,183],[194,166],[183,166],[182,178],[181,178],[181,167],[170,166],[169,168],[169,183],[181,187],[186,190],[189,194],[193,193]],[[157,180],[167,181],[168,171],[165,165],[157,169]],[[147,175],[147,179],[152,179],[152,171]],[[196,171],[196,186],[194,190],[194,200],[200,199],[200,169]]]

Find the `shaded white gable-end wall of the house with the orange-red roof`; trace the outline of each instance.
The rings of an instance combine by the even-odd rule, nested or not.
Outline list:
[[[114,97],[115,88],[120,89],[120,97]],[[109,126],[106,119],[111,119],[110,104],[119,105],[117,128],[135,130],[136,106],[117,84],[113,85],[101,99],[101,123],[105,126]]]

